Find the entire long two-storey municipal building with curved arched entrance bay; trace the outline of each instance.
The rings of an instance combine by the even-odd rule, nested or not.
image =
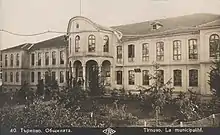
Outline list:
[[[192,14],[113,27],[76,16],[69,20],[67,37],[2,50],[3,87],[17,89],[28,82],[35,88],[48,73],[64,86],[70,73],[87,88],[97,81],[93,71],[99,71],[107,87],[137,90],[152,84],[149,75],[156,62],[162,82],[171,79],[175,91],[193,88],[210,94],[208,72],[220,51],[220,15]]]

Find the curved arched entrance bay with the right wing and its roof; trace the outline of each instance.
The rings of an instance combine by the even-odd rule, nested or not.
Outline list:
[[[208,72],[220,49],[220,15],[192,14],[110,28],[76,16],[67,34],[69,66],[76,78],[85,80],[84,87],[94,67],[111,88],[148,87],[157,62],[163,82],[172,79],[175,91],[193,88],[210,94]]]

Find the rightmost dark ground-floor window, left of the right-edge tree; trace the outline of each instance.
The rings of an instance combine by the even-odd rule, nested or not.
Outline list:
[[[189,86],[191,87],[198,86],[198,70],[196,69],[189,70]]]

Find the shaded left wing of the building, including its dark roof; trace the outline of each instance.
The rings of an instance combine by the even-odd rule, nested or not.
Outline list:
[[[24,83],[36,89],[38,79],[44,79],[49,71],[63,86],[66,82],[66,47],[65,37],[60,36],[2,50],[4,91],[16,91]]]

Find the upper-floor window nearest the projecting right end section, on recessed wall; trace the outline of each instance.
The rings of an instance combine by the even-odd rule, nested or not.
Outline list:
[[[189,44],[189,59],[198,59],[197,39],[190,39]]]

